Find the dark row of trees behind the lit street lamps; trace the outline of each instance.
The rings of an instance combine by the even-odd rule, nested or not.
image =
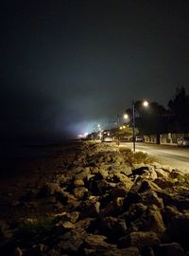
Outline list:
[[[142,101],[136,101],[135,111],[135,125],[141,134],[189,132],[189,96],[183,86],[176,89],[174,97],[168,101],[167,108],[158,102],[150,102],[145,109]],[[128,109],[127,113],[131,114],[131,109]]]

